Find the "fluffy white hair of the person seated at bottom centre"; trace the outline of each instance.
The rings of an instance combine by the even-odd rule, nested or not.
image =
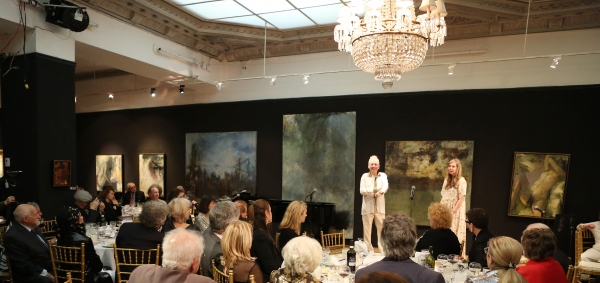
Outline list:
[[[291,239],[281,251],[285,266],[299,275],[313,272],[323,260],[322,252],[321,244],[306,236]]]

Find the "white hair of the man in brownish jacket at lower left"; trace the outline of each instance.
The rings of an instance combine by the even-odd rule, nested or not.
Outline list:
[[[178,228],[165,234],[162,244],[164,268],[188,270],[194,259],[202,258],[204,239],[199,232]]]

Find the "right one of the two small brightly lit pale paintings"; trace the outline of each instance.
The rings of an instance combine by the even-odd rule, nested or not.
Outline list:
[[[139,159],[140,184],[138,190],[147,192],[150,186],[158,185],[165,192],[165,154],[142,153]]]

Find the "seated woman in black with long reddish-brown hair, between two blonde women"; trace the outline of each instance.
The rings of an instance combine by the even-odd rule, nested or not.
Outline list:
[[[281,253],[275,247],[275,241],[271,238],[271,233],[267,226],[273,222],[271,206],[264,199],[256,200],[252,206],[254,207],[254,222],[252,223],[254,227],[252,230],[252,248],[250,248],[250,254],[256,257],[256,262],[260,266],[263,278],[271,278],[271,272],[279,269],[283,262]]]

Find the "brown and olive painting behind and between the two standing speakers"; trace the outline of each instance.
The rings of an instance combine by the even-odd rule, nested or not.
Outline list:
[[[441,191],[448,161],[458,158],[467,181],[466,210],[471,205],[473,141],[388,141],[385,147],[385,173],[390,187],[386,193],[386,213],[412,214],[416,225],[429,226],[427,208],[442,199]],[[415,186],[413,201],[411,187]]]

